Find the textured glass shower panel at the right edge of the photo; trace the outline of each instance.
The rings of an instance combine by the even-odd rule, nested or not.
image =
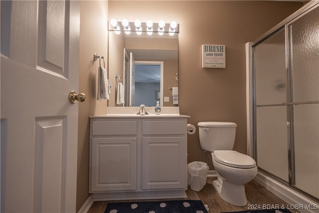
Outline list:
[[[292,185],[319,199],[319,7],[288,24]]]

